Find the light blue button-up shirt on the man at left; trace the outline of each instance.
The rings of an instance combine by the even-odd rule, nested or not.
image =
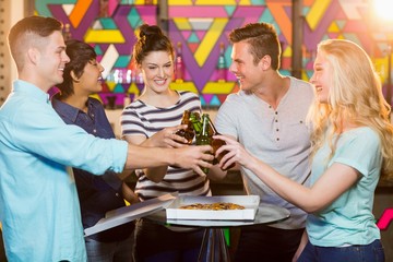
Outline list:
[[[127,142],[66,124],[38,87],[15,81],[0,108],[0,221],[9,261],[86,261],[68,166],[120,172]]]

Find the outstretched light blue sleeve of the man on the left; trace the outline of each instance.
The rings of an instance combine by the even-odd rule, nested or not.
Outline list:
[[[66,124],[49,104],[21,105],[15,116],[24,119],[14,120],[10,133],[20,150],[98,175],[121,172],[124,167],[126,141],[98,139],[78,126]]]

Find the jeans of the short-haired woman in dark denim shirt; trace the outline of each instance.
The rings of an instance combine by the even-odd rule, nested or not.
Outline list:
[[[99,242],[85,239],[87,260],[90,262],[133,262],[134,234],[122,241]]]

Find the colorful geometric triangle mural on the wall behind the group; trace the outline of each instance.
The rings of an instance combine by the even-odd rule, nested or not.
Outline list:
[[[143,22],[157,24],[157,0],[36,0],[36,13],[55,16],[70,24],[73,38],[95,47],[107,76],[105,90],[98,94],[116,95],[118,106],[123,97],[131,99],[143,85],[133,75],[114,81],[112,75],[131,73],[131,49],[134,29]],[[269,22],[276,26],[283,47],[283,74],[291,71],[291,0],[168,0],[168,36],[176,46],[182,44],[184,82],[172,83],[176,90],[200,95],[203,106],[218,107],[226,96],[238,90],[227,72],[226,82],[217,82],[216,66],[219,45],[225,46],[225,68],[230,66],[231,47],[227,36],[236,27],[251,22]],[[317,44],[325,38],[346,38],[362,46],[373,58],[386,80],[386,49],[390,31],[379,32],[372,23],[370,3],[364,0],[303,0],[302,79],[312,74]],[[393,26],[392,26],[393,27]],[[389,34],[386,34],[386,32]],[[115,79],[119,79],[118,75]]]

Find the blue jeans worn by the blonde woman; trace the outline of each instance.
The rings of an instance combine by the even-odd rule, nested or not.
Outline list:
[[[318,247],[307,243],[298,262],[384,262],[384,251],[379,239],[369,245],[350,247]]]

